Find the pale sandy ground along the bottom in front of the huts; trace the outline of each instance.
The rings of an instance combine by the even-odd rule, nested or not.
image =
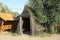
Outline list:
[[[49,37],[29,36],[26,34],[16,35],[16,36],[12,36],[8,34],[0,34],[0,40],[60,40],[60,34],[51,35]]]

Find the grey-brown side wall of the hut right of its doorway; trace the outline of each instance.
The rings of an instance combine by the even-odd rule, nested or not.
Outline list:
[[[31,17],[31,25],[32,25],[32,34],[34,33],[40,33],[40,32],[43,32],[43,30],[45,30],[45,28],[40,25],[39,23],[36,22],[36,17],[35,16],[32,16]]]

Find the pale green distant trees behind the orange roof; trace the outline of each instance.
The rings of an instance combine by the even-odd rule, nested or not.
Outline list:
[[[6,5],[4,5],[2,2],[0,2],[0,12],[1,13],[10,13],[13,14],[14,16],[18,15],[18,12],[13,12],[11,11]]]

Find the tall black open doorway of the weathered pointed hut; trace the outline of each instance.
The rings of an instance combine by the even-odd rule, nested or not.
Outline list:
[[[22,18],[23,19],[23,33],[30,34],[30,18]]]

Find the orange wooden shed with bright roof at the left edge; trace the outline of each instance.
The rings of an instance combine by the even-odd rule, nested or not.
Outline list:
[[[13,31],[17,20],[12,14],[0,13],[0,32],[5,30]],[[15,25],[15,26],[14,26]]]

